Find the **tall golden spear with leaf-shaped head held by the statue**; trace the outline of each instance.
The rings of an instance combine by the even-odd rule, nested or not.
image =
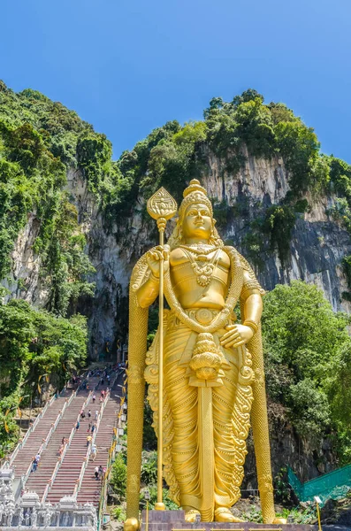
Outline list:
[[[156,219],[159,245],[164,247],[164,229],[167,219],[171,219],[177,212],[177,203],[167,192],[166,189],[160,188],[149,198],[147,204],[148,212],[151,218]],[[164,412],[164,255],[160,258],[160,285],[159,285],[159,314],[158,314],[158,333],[159,333],[159,354],[158,354],[158,437],[157,437],[157,503],[155,509],[164,511],[163,503],[163,412]]]

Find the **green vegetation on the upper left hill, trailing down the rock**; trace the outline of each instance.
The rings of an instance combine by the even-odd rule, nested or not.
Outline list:
[[[79,164],[72,153],[81,131],[95,133],[74,112],[33,90],[16,95],[5,89],[0,104],[0,278],[10,269],[13,244],[31,213],[34,227],[39,225],[34,251],[50,288],[48,308],[65,315],[80,295],[94,290],[87,280],[93,268],[84,254],[85,236],[64,186],[66,165]],[[89,155],[93,162],[88,166],[86,156],[82,169],[100,162]]]

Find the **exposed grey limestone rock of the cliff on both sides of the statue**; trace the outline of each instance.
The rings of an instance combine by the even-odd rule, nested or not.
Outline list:
[[[245,243],[250,223],[272,204],[278,204],[286,196],[289,185],[282,158],[267,160],[244,154],[246,163],[239,173],[233,174],[225,172],[222,161],[208,153],[207,171],[200,178],[214,204],[226,204],[225,219],[218,227],[223,239],[250,261]],[[87,252],[96,270],[91,279],[96,285],[94,303],[80,304],[80,312],[89,317],[89,353],[96,358],[107,339],[112,350],[118,338],[126,341],[130,274],[141,254],[156,244],[156,229],[154,222],[143,214],[145,198],[142,196],[133,205],[131,215],[116,219],[108,230],[78,170],[68,171],[67,189],[88,236]],[[342,292],[347,290],[347,280],[340,266],[342,258],[351,254],[350,237],[327,214],[334,201],[332,196],[317,200],[308,196],[307,199],[310,210],[296,216],[286,264],[283,266],[277,252],[266,246],[260,266],[254,265],[256,274],[268,290],[277,283],[294,279],[317,284],[335,311],[351,312],[351,305],[341,299]],[[40,222],[32,214],[13,250],[11,279],[6,281],[6,286],[11,296],[44,306],[48,293],[40,276],[40,259],[32,249],[39,226]],[[172,222],[168,234],[171,230]]]

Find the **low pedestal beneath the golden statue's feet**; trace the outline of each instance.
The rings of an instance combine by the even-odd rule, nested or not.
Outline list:
[[[254,522],[242,522],[240,524],[228,524],[226,522],[195,522],[190,524],[185,521],[184,511],[149,511],[149,525],[146,525],[146,511],[141,513],[141,531],[213,531],[222,529],[229,531],[318,531],[318,526],[304,524],[256,524]]]

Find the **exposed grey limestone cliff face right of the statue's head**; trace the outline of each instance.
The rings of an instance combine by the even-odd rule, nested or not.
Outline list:
[[[233,206],[239,200],[245,204],[245,217],[231,219],[220,233],[248,258],[242,241],[248,235],[249,222],[284,199],[289,185],[282,158],[266,160],[244,154],[247,160],[240,173],[224,176],[220,176],[218,159],[210,156],[210,172],[203,184],[218,202],[225,200]],[[255,268],[258,279],[267,290],[298,279],[316,284],[334,311],[351,312],[351,305],[341,299],[342,292],[347,291],[347,280],[340,266],[342,258],[351,251],[350,236],[327,214],[334,203],[333,197],[314,200],[307,196],[307,199],[310,211],[297,215],[286,264],[281,264],[276,252],[265,252],[262,266]]]

